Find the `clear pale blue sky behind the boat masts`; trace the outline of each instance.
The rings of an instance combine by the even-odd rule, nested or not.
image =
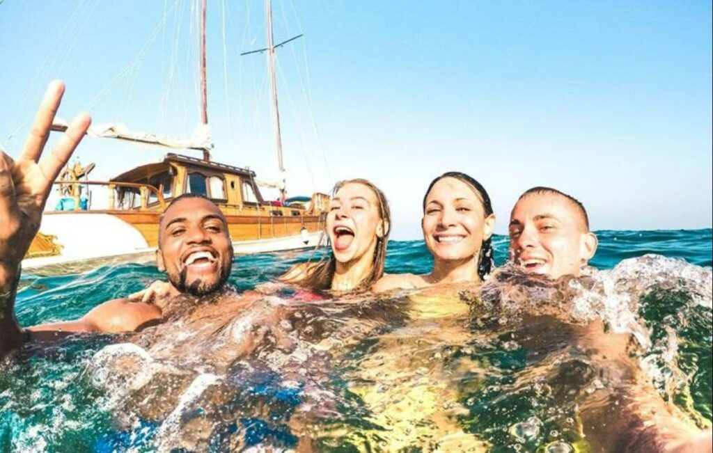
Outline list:
[[[215,160],[276,179],[262,1],[208,0]],[[225,5],[230,3],[225,11]],[[195,1],[0,1],[0,146],[17,155],[49,80],[59,112],[188,136],[198,123]],[[225,14],[224,14],[225,11]],[[449,170],[490,192],[505,232],[534,185],[594,229],[712,227],[710,1],[274,0],[290,194],[366,177],[417,239]],[[85,140],[93,179],[158,150]]]

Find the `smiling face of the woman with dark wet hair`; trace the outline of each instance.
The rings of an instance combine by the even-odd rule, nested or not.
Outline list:
[[[473,259],[493,234],[495,216],[486,217],[483,199],[465,182],[443,177],[426,194],[424,240],[434,259]]]

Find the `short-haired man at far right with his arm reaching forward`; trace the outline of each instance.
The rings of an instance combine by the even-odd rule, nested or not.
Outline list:
[[[550,187],[533,187],[520,195],[509,234],[513,264],[554,279],[581,276],[597,250],[583,204]],[[602,395],[585,397],[580,406],[583,433],[593,449],[712,451],[710,430],[699,431],[677,407],[652,397],[657,390],[630,356],[631,335],[605,333],[600,320],[571,330],[577,347],[587,351],[607,384]],[[607,400],[608,405],[603,403]]]

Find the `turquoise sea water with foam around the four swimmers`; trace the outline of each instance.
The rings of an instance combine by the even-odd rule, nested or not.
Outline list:
[[[649,367],[647,370],[651,380],[657,385],[662,397],[676,402],[699,426],[710,426],[713,391],[713,282],[710,269],[713,230],[598,231],[597,236],[600,245],[591,264],[603,272],[595,277],[595,289],[588,288],[584,295],[577,296],[575,309],[588,313],[596,311],[597,316],[609,321],[615,329],[641,335],[645,346],[640,360]],[[496,236],[493,246],[496,250],[496,264],[501,266],[507,257],[507,238]],[[637,259],[646,254],[658,256]],[[239,256],[232,268],[230,282],[239,291],[255,288],[260,283],[275,280],[290,266],[304,261],[310,255],[309,251],[299,251]],[[626,259],[632,260],[617,266]],[[429,271],[430,267],[431,256],[422,241],[389,243],[387,272],[422,274]],[[98,303],[138,291],[158,278],[162,278],[162,274],[155,267],[138,264],[101,267],[70,276],[37,277],[25,274],[16,303],[17,317],[23,326],[76,318]],[[359,318],[357,321],[361,322],[361,326],[364,318],[369,318],[364,313],[371,313],[369,310],[373,308],[376,314],[369,318],[373,321],[369,324],[371,330],[354,343],[346,342],[349,347],[342,345],[346,349],[340,352],[342,355],[339,360],[333,353],[330,358],[324,359],[327,360],[325,363],[331,365],[319,365],[319,370],[314,372],[326,374],[319,378],[310,377],[308,383],[296,378],[299,385],[289,385],[280,370],[287,367],[285,363],[291,362],[284,359],[287,361],[282,363],[282,368],[263,366],[263,361],[268,363],[275,356],[274,351],[268,354],[265,349],[253,357],[255,361],[251,361],[249,366],[242,362],[240,366],[233,364],[230,371],[224,370],[225,375],[220,375],[220,385],[225,388],[220,387],[222,390],[217,395],[230,395],[229,400],[224,398],[220,403],[212,405],[207,402],[202,405],[195,403],[195,407],[188,410],[183,408],[181,410],[184,412],[178,415],[176,410],[180,402],[173,402],[173,412],[164,411],[163,415],[148,416],[141,410],[135,410],[133,407],[140,404],[134,401],[132,406],[128,402],[131,398],[126,396],[125,391],[126,387],[133,389],[138,385],[130,374],[120,379],[113,377],[117,381],[111,380],[111,385],[107,384],[109,380],[106,376],[98,377],[101,370],[98,370],[97,363],[109,363],[102,361],[106,355],[111,355],[112,350],[108,346],[123,343],[126,340],[123,337],[78,335],[41,348],[26,348],[19,357],[2,365],[0,371],[0,451],[152,451],[157,439],[168,439],[166,433],[169,431],[167,426],[170,417],[176,415],[183,420],[181,423],[188,424],[186,420],[194,420],[198,417],[196,414],[221,420],[218,424],[210,425],[208,432],[211,434],[208,439],[203,439],[203,444],[197,444],[202,445],[198,449],[227,451],[265,444],[292,448],[299,443],[299,435],[290,420],[299,418],[297,407],[309,400],[307,388],[310,386],[329,390],[333,401],[325,404],[329,411],[341,414],[324,419],[329,422],[318,423],[320,428],[312,434],[321,439],[317,442],[320,449],[389,451],[388,436],[383,434],[388,432],[389,422],[382,422],[384,419],[376,415],[374,405],[377,403],[369,408],[369,392],[360,393],[361,387],[375,385],[374,380],[364,377],[361,371],[368,367],[378,369],[383,366],[383,363],[374,365],[374,360],[391,350],[389,341],[393,338],[389,335],[399,333],[403,338],[409,338],[409,335],[416,338],[423,335],[423,332],[414,333],[406,329],[410,326],[409,316],[414,318],[409,311],[360,303],[362,305],[359,306],[358,315],[337,307],[332,312],[337,313],[334,318],[339,320],[339,326],[342,323],[347,326],[352,323],[352,318]],[[394,301],[394,307],[402,306],[400,301]],[[632,323],[624,322],[629,315],[636,318],[633,326]],[[330,331],[332,327],[329,326],[334,321],[325,321],[324,314],[321,316],[315,319],[327,326],[324,331]],[[568,451],[568,446],[580,442],[576,423],[572,421],[578,417],[578,401],[573,397],[553,397],[553,394],[558,394],[554,382],[559,382],[557,385],[560,385],[562,395],[568,395],[565,390],[570,385],[586,387],[591,382],[580,382],[583,379],[581,373],[574,371],[570,377],[565,378],[560,374],[555,378],[543,372],[531,379],[533,369],[552,366],[546,359],[549,355],[543,353],[537,356],[539,352],[533,355],[533,350],[538,348],[549,354],[548,345],[528,343],[529,337],[525,338],[523,332],[529,327],[522,323],[515,326],[499,318],[499,324],[490,326],[488,323],[493,323],[493,316],[493,313],[488,312],[481,313],[477,319],[471,315],[465,323],[461,323],[462,320],[453,323],[443,321],[438,324],[438,328],[448,330],[457,326],[457,329],[454,328],[455,333],[448,340],[440,338],[429,343],[431,350],[426,348],[424,352],[424,349],[414,349],[409,356],[413,360],[404,365],[404,369],[409,370],[416,360],[431,364],[434,363],[434,357],[438,358],[435,362],[437,367],[433,365],[436,368],[431,365],[414,365],[412,375],[427,373],[434,381],[429,381],[431,390],[440,389],[438,376],[447,375],[448,379],[454,380],[453,405],[457,405],[460,412],[451,417],[453,423],[459,425],[458,429],[463,432],[473,434],[473,438],[486,440],[494,451],[535,451],[549,447],[563,448],[552,451]],[[317,325],[322,326],[315,323]],[[476,325],[478,328],[473,327]],[[418,328],[425,328],[426,333],[429,333],[428,329],[432,326],[421,323]],[[556,329],[550,323],[538,328],[543,332]],[[352,330],[363,332],[364,328]],[[334,328],[334,332],[342,330]],[[312,340],[305,338],[304,335],[299,336],[298,343],[303,341],[304,347],[309,348],[307,343]],[[409,351],[410,346],[403,338],[399,340],[396,353],[411,354],[404,352]],[[421,340],[419,338],[419,342]],[[137,341],[143,348],[150,350],[151,340]],[[674,350],[672,342],[676,343]],[[436,349],[437,352],[434,352]],[[286,357],[297,356],[294,350]],[[200,356],[200,350],[192,351]],[[670,359],[671,353],[675,360]],[[299,369],[312,373],[310,366],[322,358],[317,353],[309,355],[310,363],[300,365],[302,368]],[[565,362],[565,365],[568,363]],[[569,365],[575,369],[578,363]],[[468,366],[471,367],[465,373],[462,372],[466,366],[464,364],[470,364]],[[426,372],[423,371],[424,366]],[[563,366],[555,367],[557,373],[561,372]],[[261,371],[257,373],[255,370]],[[453,378],[456,370],[461,373],[458,379]],[[197,373],[199,378],[210,374],[205,373],[205,370]],[[123,375],[117,373],[117,376]],[[199,378],[193,381],[188,390],[197,385]],[[420,384],[414,384],[409,377],[404,379],[406,388],[420,391]],[[178,381],[172,377],[167,382]],[[389,385],[392,383],[389,382]],[[170,387],[162,387],[165,382],[156,385],[158,387],[154,392],[162,392]],[[543,385],[553,390],[543,393],[540,391]],[[236,388],[241,390],[236,392]],[[382,389],[382,392],[386,395],[395,392],[394,395],[400,395],[399,398],[404,396],[399,393],[399,387],[392,385],[389,388],[391,390]],[[188,390],[184,385],[177,392],[185,396]],[[180,397],[176,400],[180,400]],[[216,404],[219,409],[215,409]],[[208,407],[212,407],[212,412]],[[246,407],[251,409],[247,410]],[[178,423],[177,426],[183,425]],[[533,427],[536,429],[533,430]],[[183,432],[180,429],[178,431]],[[330,434],[323,435],[324,432]],[[240,439],[235,440],[235,437]],[[428,450],[428,445],[426,441],[421,444],[416,442],[414,447]]]

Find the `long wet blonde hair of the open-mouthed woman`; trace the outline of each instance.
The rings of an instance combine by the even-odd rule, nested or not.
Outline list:
[[[371,286],[384,275],[386,242],[389,240],[389,232],[391,232],[391,211],[389,210],[389,201],[386,199],[384,192],[381,192],[381,189],[376,187],[368,179],[345,179],[344,181],[337,182],[337,184],[334,184],[334,189],[332,189],[332,197],[336,196],[339,189],[342,189],[342,187],[347,184],[361,184],[369,187],[379,202],[379,206],[377,206],[377,209],[379,209],[379,218],[384,221],[384,234],[382,234],[381,237],[376,236],[376,249],[374,249],[374,259],[371,261],[371,271],[369,271],[369,275],[363,278],[353,290],[365,291],[371,288]],[[328,237],[327,222],[324,222],[322,237]],[[319,243],[321,244],[322,241],[320,240]],[[322,259],[315,264],[312,264],[311,261],[312,257],[307,261],[307,271],[305,271],[304,277],[298,279],[288,278],[287,281],[315,291],[329,290],[329,288],[332,287],[334,273],[337,271],[337,258],[334,256],[334,251],[330,249],[329,255],[322,257]]]

